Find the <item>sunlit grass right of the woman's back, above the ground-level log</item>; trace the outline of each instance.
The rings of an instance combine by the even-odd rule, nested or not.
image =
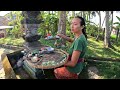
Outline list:
[[[120,45],[120,44],[119,44]],[[103,58],[119,58],[120,52],[117,50],[120,50],[120,47],[116,47],[115,44],[113,45],[116,50],[112,48],[105,49],[103,41],[95,41],[95,38],[89,37],[88,39],[88,50],[87,50],[87,56],[92,57],[103,57]]]

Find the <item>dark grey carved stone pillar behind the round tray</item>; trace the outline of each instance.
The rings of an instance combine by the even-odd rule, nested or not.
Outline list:
[[[41,35],[38,35],[37,29],[41,23],[38,19],[40,11],[23,11],[24,20],[21,22],[25,28],[25,35],[23,39],[25,40],[24,47],[29,50],[38,49],[41,44],[38,41]]]

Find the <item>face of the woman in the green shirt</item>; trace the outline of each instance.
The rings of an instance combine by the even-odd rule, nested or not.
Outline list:
[[[72,33],[77,33],[82,30],[83,27],[80,25],[80,19],[79,18],[74,18],[71,22],[71,32]]]

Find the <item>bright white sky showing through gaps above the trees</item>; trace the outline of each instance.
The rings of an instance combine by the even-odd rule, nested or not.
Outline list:
[[[9,12],[10,11],[0,11],[0,16],[4,16],[5,14],[7,14]],[[120,12],[119,13],[118,12],[114,12],[114,14],[113,14],[113,23],[114,22],[118,22],[116,16],[120,17]],[[105,17],[105,13],[104,12],[101,12],[101,17],[102,17],[101,21],[103,23],[103,20],[104,20],[104,17]],[[91,21],[93,21],[94,23],[98,24],[99,23],[99,17],[98,17],[98,15],[96,15],[96,17],[92,18]],[[103,24],[103,27],[105,27],[105,22]]]

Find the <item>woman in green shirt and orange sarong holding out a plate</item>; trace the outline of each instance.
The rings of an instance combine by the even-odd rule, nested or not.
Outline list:
[[[63,34],[59,37],[71,42],[68,61],[64,67],[54,70],[57,79],[78,79],[78,74],[84,67],[84,57],[87,50],[87,35],[85,33],[85,20],[77,16],[71,22],[71,32],[74,34],[74,40]]]

